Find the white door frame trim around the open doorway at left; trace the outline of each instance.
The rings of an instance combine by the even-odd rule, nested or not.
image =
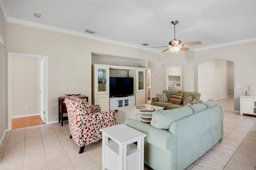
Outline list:
[[[45,61],[45,98],[44,102],[45,103],[45,124],[48,124],[48,56],[47,55],[35,55],[35,54],[24,54],[24,53],[7,53],[8,57],[8,73],[7,73],[7,91],[8,91],[8,131],[12,130],[12,57],[34,57],[34,58],[41,58],[44,59]]]

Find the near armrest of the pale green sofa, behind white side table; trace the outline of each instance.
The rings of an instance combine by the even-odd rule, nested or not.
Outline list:
[[[158,146],[165,150],[174,150],[176,148],[176,136],[168,130],[154,128],[147,123],[126,119],[125,125],[132,127],[140,132],[146,133],[144,140],[152,145]]]

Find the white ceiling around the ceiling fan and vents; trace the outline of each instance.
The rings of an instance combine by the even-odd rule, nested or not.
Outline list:
[[[8,22],[150,51],[174,39],[198,51],[256,41],[256,0],[2,0]],[[36,18],[35,13],[41,14]],[[85,32],[96,31],[95,34]],[[144,46],[142,43],[149,43]]]

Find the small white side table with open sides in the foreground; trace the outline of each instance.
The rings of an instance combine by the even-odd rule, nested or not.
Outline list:
[[[100,131],[103,170],[144,169],[144,137],[147,136],[145,133],[124,124],[102,128]],[[137,146],[134,142],[137,142]]]

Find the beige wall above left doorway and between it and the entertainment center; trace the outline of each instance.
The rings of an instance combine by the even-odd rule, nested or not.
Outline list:
[[[58,121],[58,97],[80,93],[91,103],[92,53],[160,60],[160,54],[68,34],[6,23],[7,52],[48,56],[49,123]]]

